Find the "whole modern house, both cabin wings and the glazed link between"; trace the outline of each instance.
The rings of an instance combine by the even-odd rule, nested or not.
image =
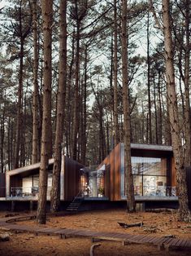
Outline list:
[[[131,144],[132,174],[137,203],[177,205],[176,169],[171,146]],[[54,159],[49,161],[47,201],[50,201]],[[0,176],[0,200],[37,201],[40,163],[10,170]],[[191,174],[187,170],[189,200]],[[5,186],[6,184],[6,186]],[[3,187],[4,186],[4,187]],[[5,189],[6,187],[6,189]],[[60,200],[81,198],[86,204],[125,204],[124,143],[119,143],[98,166],[83,166],[63,156]],[[96,208],[95,207],[95,208]]]

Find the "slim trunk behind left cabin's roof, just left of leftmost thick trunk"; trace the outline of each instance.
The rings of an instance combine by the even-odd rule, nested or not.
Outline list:
[[[33,0],[33,152],[32,164],[38,161],[38,45],[37,45],[37,0]]]

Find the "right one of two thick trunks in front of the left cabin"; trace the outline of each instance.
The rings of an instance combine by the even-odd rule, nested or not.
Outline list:
[[[57,100],[54,166],[50,210],[56,212],[60,204],[60,171],[62,165],[63,119],[67,83],[67,0],[59,2],[59,91]]]

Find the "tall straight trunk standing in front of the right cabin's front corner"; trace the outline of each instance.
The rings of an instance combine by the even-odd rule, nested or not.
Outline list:
[[[124,107],[124,166],[125,185],[127,193],[127,210],[135,211],[135,196],[133,188],[132,161],[131,161],[131,127],[128,92],[128,48],[127,48],[127,0],[122,0],[122,82]]]

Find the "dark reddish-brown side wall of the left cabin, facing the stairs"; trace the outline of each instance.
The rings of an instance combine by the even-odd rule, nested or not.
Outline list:
[[[84,166],[64,157],[64,200],[72,201],[80,192],[80,169]]]

